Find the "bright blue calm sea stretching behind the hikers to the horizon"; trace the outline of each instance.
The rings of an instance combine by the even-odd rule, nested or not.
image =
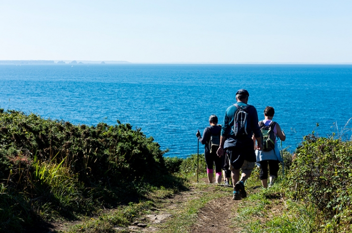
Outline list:
[[[75,124],[119,119],[169,148],[166,156],[197,153],[196,131],[211,114],[222,121],[240,88],[260,119],[275,108],[290,150],[352,117],[352,65],[0,65],[0,108]]]

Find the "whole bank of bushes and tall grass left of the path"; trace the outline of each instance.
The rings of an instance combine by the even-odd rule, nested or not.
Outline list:
[[[0,109],[0,232],[139,202],[154,187],[177,191],[183,182],[167,172],[164,152],[129,124],[73,125]]]

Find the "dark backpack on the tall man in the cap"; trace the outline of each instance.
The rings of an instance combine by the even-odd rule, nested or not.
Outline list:
[[[235,122],[232,131],[234,131],[236,137],[247,137],[247,120],[248,120],[248,112],[247,108],[250,105],[239,106],[235,104],[237,111],[235,113]]]

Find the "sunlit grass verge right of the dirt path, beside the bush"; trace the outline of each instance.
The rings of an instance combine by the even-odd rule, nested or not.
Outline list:
[[[283,197],[278,181],[270,189],[243,200],[237,209],[233,227],[240,225],[247,233],[312,233],[317,224],[316,212],[302,203]]]

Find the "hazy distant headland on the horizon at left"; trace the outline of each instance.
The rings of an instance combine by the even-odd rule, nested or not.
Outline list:
[[[0,60],[0,64],[22,65],[22,64],[129,64],[128,61],[80,61],[80,60]]]

